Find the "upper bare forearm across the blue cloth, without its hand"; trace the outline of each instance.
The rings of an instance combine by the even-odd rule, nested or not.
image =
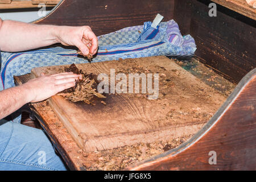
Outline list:
[[[58,43],[58,26],[0,19],[1,51],[18,52]]]

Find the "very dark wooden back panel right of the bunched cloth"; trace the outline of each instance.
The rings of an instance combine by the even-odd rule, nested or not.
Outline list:
[[[195,39],[195,54],[202,63],[238,83],[256,68],[255,20],[220,5],[217,5],[217,16],[210,17],[211,2],[175,1],[174,20],[182,34]]]

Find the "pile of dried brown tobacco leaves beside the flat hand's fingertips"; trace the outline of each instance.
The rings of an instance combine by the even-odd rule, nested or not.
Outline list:
[[[98,98],[106,98],[102,94],[96,92],[97,81],[94,80],[92,73],[87,75],[82,70],[72,64],[69,68],[65,68],[65,72],[73,72],[75,74],[82,75],[81,80],[76,81],[76,85],[73,88],[65,90],[59,93],[59,96],[63,96],[71,102],[84,101],[86,104],[92,104],[92,99],[96,96]]]

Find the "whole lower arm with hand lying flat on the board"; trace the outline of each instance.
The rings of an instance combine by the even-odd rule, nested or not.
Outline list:
[[[80,75],[59,73],[32,79],[26,84],[14,86],[0,92],[0,119],[18,110],[28,102],[39,102],[75,86]]]

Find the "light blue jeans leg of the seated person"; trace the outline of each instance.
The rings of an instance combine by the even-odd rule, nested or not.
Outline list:
[[[44,132],[0,120],[0,170],[67,170]]]

